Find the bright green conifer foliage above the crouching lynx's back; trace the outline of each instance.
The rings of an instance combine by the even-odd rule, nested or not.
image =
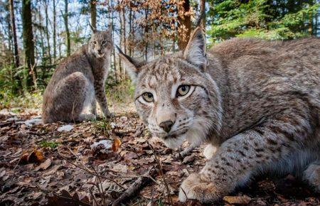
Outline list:
[[[208,12],[211,42],[232,37],[284,40],[309,36],[316,1],[213,1]]]

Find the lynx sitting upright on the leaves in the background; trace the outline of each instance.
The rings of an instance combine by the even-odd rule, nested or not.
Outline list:
[[[43,94],[44,123],[54,121],[82,121],[96,116],[96,103],[105,116],[110,116],[105,96],[105,80],[113,48],[110,29],[95,31],[87,45],[66,58],[55,69]],[[82,114],[85,107],[92,114]]]

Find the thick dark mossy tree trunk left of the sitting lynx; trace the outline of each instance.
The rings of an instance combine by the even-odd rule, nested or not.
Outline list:
[[[22,0],[22,36],[25,64],[28,67],[26,74],[26,86],[36,86],[36,68],[34,67],[34,43],[32,31],[31,1]],[[34,68],[34,69],[33,69]],[[32,76],[30,76],[30,74]]]

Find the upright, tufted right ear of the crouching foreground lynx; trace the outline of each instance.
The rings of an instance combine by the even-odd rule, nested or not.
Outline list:
[[[183,51],[183,58],[193,65],[206,69],[206,37],[200,27],[191,33],[188,45]]]

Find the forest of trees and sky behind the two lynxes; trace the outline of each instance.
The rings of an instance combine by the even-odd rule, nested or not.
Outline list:
[[[1,0],[0,109],[41,103],[55,67],[98,30],[112,26],[115,45],[152,60],[183,50],[201,13],[208,48],[233,37],[287,40],[320,36],[319,0]],[[117,53],[108,95],[124,101],[134,90]]]

